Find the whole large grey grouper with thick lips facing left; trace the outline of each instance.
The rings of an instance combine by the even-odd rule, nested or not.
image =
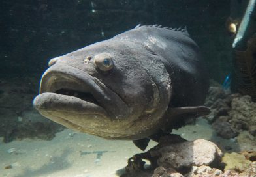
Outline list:
[[[137,26],[51,59],[33,104],[67,128],[144,150],[202,106],[208,74],[186,29]]]

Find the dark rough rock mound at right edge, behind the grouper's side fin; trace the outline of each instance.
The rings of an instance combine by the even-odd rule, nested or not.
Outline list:
[[[243,130],[256,136],[256,103],[251,97],[231,94],[223,90],[221,85],[212,83],[205,105],[212,109],[205,118],[213,122],[217,135],[231,139]]]

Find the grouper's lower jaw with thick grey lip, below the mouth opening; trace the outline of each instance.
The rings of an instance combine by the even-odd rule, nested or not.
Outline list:
[[[89,131],[93,128],[93,119],[111,121],[102,107],[74,96],[46,92],[39,94],[33,105],[41,115],[76,131]]]

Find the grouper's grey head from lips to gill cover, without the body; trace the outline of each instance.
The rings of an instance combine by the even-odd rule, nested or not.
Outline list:
[[[161,97],[170,96],[159,94],[140,62],[142,53],[120,45],[99,42],[51,59],[35,109],[67,128],[106,139],[151,135],[164,112]]]

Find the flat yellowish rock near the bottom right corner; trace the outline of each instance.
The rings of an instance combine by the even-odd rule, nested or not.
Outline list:
[[[222,162],[226,164],[224,171],[227,172],[244,172],[251,165],[251,161],[247,160],[242,154],[236,152],[225,153]]]

